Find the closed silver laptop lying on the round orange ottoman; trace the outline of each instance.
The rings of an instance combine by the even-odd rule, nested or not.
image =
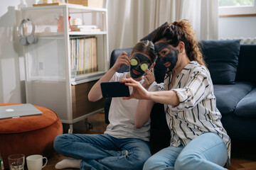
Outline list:
[[[0,119],[6,118],[19,118],[22,116],[42,115],[43,113],[38,110],[31,103],[0,106]]]

